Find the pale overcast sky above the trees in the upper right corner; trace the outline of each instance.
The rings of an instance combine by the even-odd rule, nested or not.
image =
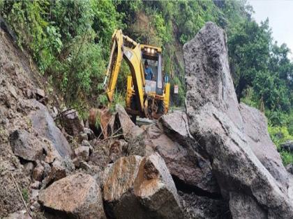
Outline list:
[[[273,39],[278,45],[287,44],[293,53],[293,0],[248,0],[253,6],[253,17],[260,23],[269,17]],[[289,56],[293,60],[293,54]]]

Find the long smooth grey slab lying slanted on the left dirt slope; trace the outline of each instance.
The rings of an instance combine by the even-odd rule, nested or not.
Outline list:
[[[36,100],[28,100],[28,102],[36,108],[36,111],[29,113],[33,129],[38,132],[39,136],[50,140],[59,156],[63,158],[70,157],[73,154],[70,145],[60,129],[55,125],[47,107]]]

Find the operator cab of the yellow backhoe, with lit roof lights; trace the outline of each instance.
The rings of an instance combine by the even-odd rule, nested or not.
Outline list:
[[[142,65],[147,60],[153,72],[153,80],[145,80],[145,92],[149,94],[163,95],[163,73],[162,73],[162,54],[158,47],[142,45]]]

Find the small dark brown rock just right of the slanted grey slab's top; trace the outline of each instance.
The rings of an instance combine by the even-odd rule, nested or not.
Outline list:
[[[70,134],[70,136],[77,136],[84,130],[82,120],[80,120],[77,111],[74,109],[63,112],[60,117],[60,122],[66,133]]]

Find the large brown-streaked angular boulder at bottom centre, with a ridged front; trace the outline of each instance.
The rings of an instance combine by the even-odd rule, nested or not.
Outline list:
[[[104,172],[110,218],[182,218],[174,181],[158,154],[118,159]]]

